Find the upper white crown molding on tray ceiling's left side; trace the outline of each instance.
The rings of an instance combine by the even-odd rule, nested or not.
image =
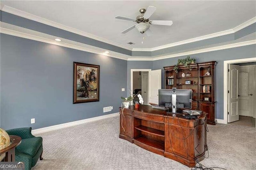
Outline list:
[[[40,22],[42,24],[46,24],[48,26],[53,26],[53,27],[56,27],[56,28],[60,28],[62,30],[66,30],[68,32],[72,32],[72,33],[75,33],[75,34],[79,34],[81,36],[85,36],[85,37],[88,37],[88,38],[92,38],[94,40],[98,40],[100,42],[104,42],[104,43],[108,43],[108,44],[111,44],[111,45],[115,45],[115,46],[118,46],[118,47],[121,47],[121,48],[124,48],[124,49],[128,49],[128,50],[132,50],[131,47],[127,47],[125,45],[122,45],[120,43],[116,43],[116,42],[113,42],[113,41],[110,41],[110,40],[107,40],[105,38],[102,38],[102,37],[98,37],[98,36],[95,36],[93,34],[90,34],[90,33],[87,33],[87,32],[83,32],[81,30],[78,30],[78,29],[75,29],[75,28],[72,28],[72,27],[69,27],[69,26],[65,26],[63,24],[60,24],[58,22],[54,22],[54,21],[51,21],[51,20],[48,20],[46,18],[42,18],[40,16],[36,16],[36,15],[33,15],[33,14],[30,14],[28,12],[24,12],[22,10],[18,10],[16,8],[12,8],[10,6],[6,6],[4,5],[3,8],[2,8],[2,11],[4,12],[8,12],[10,14],[14,14],[16,16],[20,16],[20,17],[23,17],[23,18],[27,18],[29,20],[33,20],[33,21],[36,21],[36,22]]]

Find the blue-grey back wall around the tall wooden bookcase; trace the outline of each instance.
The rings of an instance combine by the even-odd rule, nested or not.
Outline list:
[[[216,119],[224,119],[223,115],[223,65],[224,61],[232,59],[242,59],[242,58],[252,58],[256,57],[256,45],[247,45],[243,47],[236,47],[218,51],[211,51],[206,53],[199,53],[190,55],[192,58],[196,59],[197,63],[207,62],[207,61],[217,61],[216,66]],[[152,70],[162,69],[162,88],[164,88],[164,69],[165,66],[175,65],[179,58],[174,57],[169,59],[161,59],[153,61]]]

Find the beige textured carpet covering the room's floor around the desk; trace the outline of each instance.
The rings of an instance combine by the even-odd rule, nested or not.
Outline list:
[[[207,167],[256,169],[256,128],[208,125]],[[34,169],[180,169],[187,166],[118,138],[119,117],[42,133],[44,160]],[[218,168],[214,168],[218,169]]]

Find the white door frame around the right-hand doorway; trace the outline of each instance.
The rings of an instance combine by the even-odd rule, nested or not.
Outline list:
[[[233,60],[226,60],[224,61],[224,74],[223,74],[223,84],[224,84],[224,91],[223,91],[223,114],[224,119],[217,119],[218,123],[228,124],[228,64],[235,64],[235,63],[248,63],[248,62],[255,62],[256,57],[253,58],[244,58],[244,59],[233,59]],[[255,83],[255,80],[254,80]],[[254,95],[254,99],[256,95]],[[256,107],[254,108],[254,115],[255,115]]]

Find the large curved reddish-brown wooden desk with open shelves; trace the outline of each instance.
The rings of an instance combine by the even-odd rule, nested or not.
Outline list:
[[[206,114],[197,120],[183,119],[181,114],[140,105],[130,106],[120,114],[119,138],[128,140],[146,150],[193,167],[204,159],[206,144]],[[124,127],[124,129],[122,128]]]

